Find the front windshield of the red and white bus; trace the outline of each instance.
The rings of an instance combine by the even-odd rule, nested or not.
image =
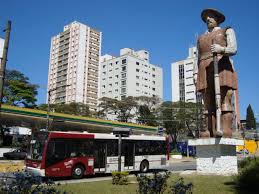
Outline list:
[[[45,142],[48,138],[48,132],[35,132],[33,139],[31,140],[29,159],[41,160],[45,146]]]

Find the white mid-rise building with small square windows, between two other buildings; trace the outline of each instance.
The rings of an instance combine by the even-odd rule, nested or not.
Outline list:
[[[119,57],[104,55],[100,69],[100,98],[163,98],[162,68],[149,63],[149,53],[145,50],[124,48],[120,50]]]

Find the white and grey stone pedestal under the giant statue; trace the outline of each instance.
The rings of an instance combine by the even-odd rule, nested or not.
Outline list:
[[[196,146],[197,173],[214,175],[238,173],[236,146],[244,145],[244,140],[203,138],[188,140],[188,145]]]

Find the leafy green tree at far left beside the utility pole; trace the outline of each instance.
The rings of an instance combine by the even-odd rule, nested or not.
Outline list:
[[[3,103],[13,106],[35,107],[38,85],[17,70],[6,70]]]

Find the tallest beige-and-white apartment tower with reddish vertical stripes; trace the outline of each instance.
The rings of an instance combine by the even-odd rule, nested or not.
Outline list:
[[[97,109],[101,41],[101,32],[77,21],[52,37],[50,103],[80,102]]]

